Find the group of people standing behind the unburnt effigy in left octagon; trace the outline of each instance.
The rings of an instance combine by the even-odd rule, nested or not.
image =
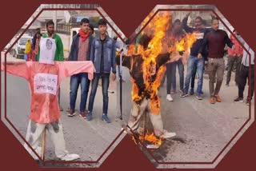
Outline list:
[[[116,64],[115,64],[115,44],[116,40],[109,38],[106,33],[106,21],[100,19],[98,21],[99,37],[94,38],[94,26],[90,24],[89,19],[82,18],[80,22],[80,30],[74,35],[70,54],[67,59],[64,58],[64,50],[62,38],[54,31],[54,22],[46,22],[46,34],[41,34],[40,29],[36,30],[32,42],[30,39],[26,43],[26,61],[39,61],[40,58],[40,38],[54,38],[56,50],[54,61],[92,61],[96,69],[94,80],[90,82],[87,73],[74,74],[70,77],[70,107],[66,110],[67,116],[73,117],[76,114],[75,104],[77,99],[78,87],[81,86],[80,116],[87,121],[92,120],[94,98],[98,88],[99,79],[102,79],[102,96],[103,109],[102,120],[110,123],[108,117],[108,88],[110,84],[110,72],[112,79],[115,80]],[[111,71],[112,68],[112,71]],[[91,85],[88,110],[86,109],[87,98]],[[63,111],[60,105],[60,88],[58,89],[58,104],[60,111]]]

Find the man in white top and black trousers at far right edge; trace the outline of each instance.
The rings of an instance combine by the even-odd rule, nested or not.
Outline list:
[[[243,101],[243,92],[246,87],[246,80],[250,78],[250,89],[248,88],[248,96],[246,99],[246,105],[250,105],[250,101],[254,96],[254,51],[250,49],[250,47],[245,43],[245,48],[250,52],[247,54],[246,50],[243,50],[242,55],[242,63],[241,68],[239,69],[239,78],[238,78],[238,97],[234,99],[234,102],[242,102]],[[250,67],[249,67],[250,66]],[[250,72],[250,74],[249,74]]]

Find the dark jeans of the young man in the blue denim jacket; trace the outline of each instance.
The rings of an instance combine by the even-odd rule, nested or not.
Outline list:
[[[109,105],[109,95],[108,95],[108,89],[109,89],[109,85],[110,85],[110,76],[109,75],[107,76],[107,75],[94,74],[94,79],[92,81],[91,90],[90,90],[88,111],[90,111],[90,113],[93,112],[94,98],[95,98],[95,95],[97,92],[99,78],[102,78],[103,113],[107,114],[108,105]]]

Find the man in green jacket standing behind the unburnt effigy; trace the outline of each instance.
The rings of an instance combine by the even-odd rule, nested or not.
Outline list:
[[[53,38],[55,40],[56,50],[55,50],[54,61],[63,62],[64,51],[63,51],[62,39],[59,37],[58,34],[54,33],[54,22],[52,20],[50,20],[49,22],[46,22],[46,30],[47,30],[47,34],[43,34],[42,38]],[[40,48],[38,50],[37,61],[39,61],[39,58],[40,58]],[[58,105],[59,105],[59,110],[63,111],[63,108],[60,105],[60,101],[61,101],[61,88],[59,86],[58,87]]]

